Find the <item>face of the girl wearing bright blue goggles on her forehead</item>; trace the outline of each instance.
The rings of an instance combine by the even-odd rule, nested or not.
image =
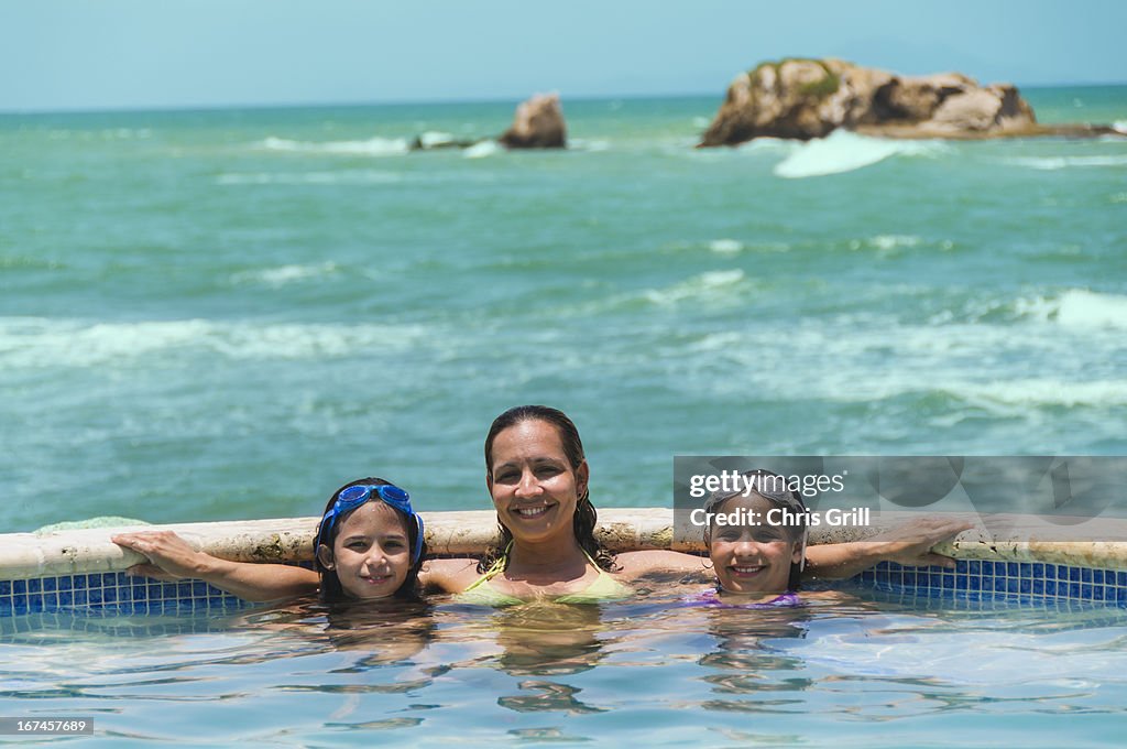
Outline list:
[[[399,590],[411,569],[410,538],[399,513],[383,502],[362,504],[337,529],[332,550],[323,544],[318,558],[334,570],[349,598],[387,598]]]

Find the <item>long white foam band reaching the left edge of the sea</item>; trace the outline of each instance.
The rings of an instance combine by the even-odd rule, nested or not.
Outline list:
[[[431,340],[423,326],[167,320],[97,323],[0,318],[0,367],[94,367],[199,355],[232,360],[304,360],[403,351]]]

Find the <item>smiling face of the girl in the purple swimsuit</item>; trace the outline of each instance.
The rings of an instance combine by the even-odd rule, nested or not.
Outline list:
[[[792,540],[793,529],[766,522],[774,505],[751,494],[734,496],[717,508],[729,514],[743,508],[758,513],[762,525],[721,526],[713,523],[709,538],[709,558],[720,588],[731,593],[782,593],[790,580],[790,565],[802,558],[801,543]],[[751,517],[751,516],[745,516]]]

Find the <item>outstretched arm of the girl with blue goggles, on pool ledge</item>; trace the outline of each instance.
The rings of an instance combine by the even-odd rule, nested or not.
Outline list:
[[[156,580],[203,580],[248,601],[273,601],[317,592],[316,572],[286,564],[229,562],[197,552],[170,530],[118,534],[110,538],[118,546],[148,557],[127,574]]]

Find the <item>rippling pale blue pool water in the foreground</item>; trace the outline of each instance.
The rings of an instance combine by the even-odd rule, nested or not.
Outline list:
[[[311,602],[0,620],[0,715],[107,746],[1118,746],[1127,610],[844,589],[798,609]],[[5,737],[15,740],[11,737]]]

